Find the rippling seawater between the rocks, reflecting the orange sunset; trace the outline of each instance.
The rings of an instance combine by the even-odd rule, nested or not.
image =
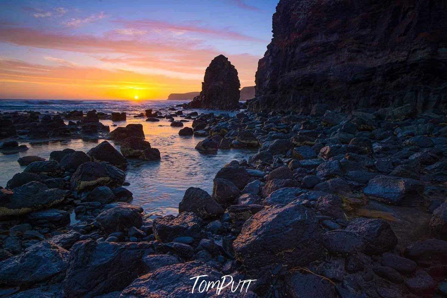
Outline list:
[[[110,102],[110,101],[108,101]],[[200,187],[211,194],[213,179],[215,174],[226,163],[233,159],[248,158],[255,151],[244,149],[219,150],[217,153],[202,153],[194,149],[195,145],[203,137],[182,137],[178,135],[180,127],[171,127],[170,122],[160,119],[160,122],[146,122],[146,118],[133,118],[135,113],[144,112],[144,109],[158,110],[160,108],[171,106],[180,102],[177,101],[120,101],[113,104],[82,104],[72,106],[69,103],[61,104],[64,108],[55,105],[33,105],[24,107],[14,103],[14,108],[7,109],[5,102],[0,102],[3,111],[11,110],[40,110],[42,111],[65,111],[73,109],[97,109],[98,112],[121,112],[126,111],[127,121],[112,122],[111,120],[100,120],[105,125],[114,130],[118,126],[126,126],[130,123],[143,124],[143,131],[146,141],[151,143],[152,147],[158,148],[161,154],[161,160],[142,161],[138,159],[128,159],[129,166],[126,171],[126,181],[131,185],[126,186],[133,193],[132,204],[142,206],[144,210],[153,215],[176,214],[178,212],[178,203],[181,201],[185,190],[191,186]],[[86,107],[85,107],[86,106]],[[179,108],[180,109],[180,108]],[[198,113],[215,112],[227,113],[223,111],[209,111],[200,109],[185,110],[185,113],[191,111]],[[230,113],[230,114],[234,114]],[[178,118],[182,119],[182,118]],[[112,124],[118,126],[113,127]],[[191,126],[192,121],[184,122],[184,126]],[[161,126],[160,126],[161,125]],[[64,141],[52,141],[46,143],[27,143],[30,149],[13,155],[0,155],[0,185],[5,186],[6,182],[17,172],[22,172],[25,166],[20,166],[17,159],[26,155],[38,155],[49,159],[50,152],[54,150],[63,150],[72,148],[87,152],[90,148],[97,146],[103,140],[81,140],[72,139]],[[114,141],[109,141],[119,151],[119,146]]]

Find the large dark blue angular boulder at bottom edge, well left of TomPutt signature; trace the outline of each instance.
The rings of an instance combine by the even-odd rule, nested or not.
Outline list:
[[[63,281],[65,296],[93,298],[124,289],[145,273],[142,258],[150,252],[147,242],[97,243],[89,239],[75,243]]]

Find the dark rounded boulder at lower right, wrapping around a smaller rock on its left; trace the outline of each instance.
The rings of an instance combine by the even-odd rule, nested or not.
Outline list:
[[[388,222],[380,218],[355,218],[346,230],[353,231],[363,237],[365,253],[380,255],[396,247],[397,237]]]

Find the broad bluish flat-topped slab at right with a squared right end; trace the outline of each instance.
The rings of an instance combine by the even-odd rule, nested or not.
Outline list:
[[[398,206],[417,206],[423,202],[424,184],[419,180],[393,176],[376,176],[363,189],[367,196]]]

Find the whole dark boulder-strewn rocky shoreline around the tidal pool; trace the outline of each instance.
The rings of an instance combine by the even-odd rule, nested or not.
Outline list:
[[[218,297],[191,294],[190,278],[231,275],[256,281],[225,297],[445,297],[445,113],[326,108],[235,117],[173,108],[171,123],[192,121],[179,134],[205,137],[200,151],[260,149],[221,168],[212,193],[191,185],[178,215],[154,220],[128,203],[126,158],[163,152],[141,125],[108,134],[87,113],[73,131],[107,134],[121,152],[105,141],[19,161],[24,172],[0,189],[1,287],[14,298]],[[70,130],[61,125],[69,117],[3,113],[13,127],[2,134],[46,138]]]

